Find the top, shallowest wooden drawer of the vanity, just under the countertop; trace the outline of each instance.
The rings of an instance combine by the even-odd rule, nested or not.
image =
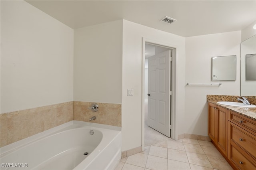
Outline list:
[[[253,121],[247,117],[244,117],[232,111],[230,111],[228,118],[231,122],[244,128],[245,130],[251,131],[254,135],[256,135],[256,121]]]

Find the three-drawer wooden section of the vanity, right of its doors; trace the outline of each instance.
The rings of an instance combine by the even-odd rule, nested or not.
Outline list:
[[[237,169],[256,169],[256,121],[233,111],[228,120],[228,159]]]

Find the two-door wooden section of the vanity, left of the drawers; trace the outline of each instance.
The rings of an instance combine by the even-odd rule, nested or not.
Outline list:
[[[228,156],[228,109],[208,103],[208,135],[218,150]]]

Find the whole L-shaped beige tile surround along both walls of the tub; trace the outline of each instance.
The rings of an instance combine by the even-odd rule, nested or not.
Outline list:
[[[92,102],[70,101],[33,109],[0,114],[0,147],[72,120],[121,127],[121,104],[98,103],[99,110],[92,112]]]

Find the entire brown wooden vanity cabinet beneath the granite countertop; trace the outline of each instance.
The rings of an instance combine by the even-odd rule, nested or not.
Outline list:
[[[237,170],[256,170],[256,121],[208,103],[208,135]]]

